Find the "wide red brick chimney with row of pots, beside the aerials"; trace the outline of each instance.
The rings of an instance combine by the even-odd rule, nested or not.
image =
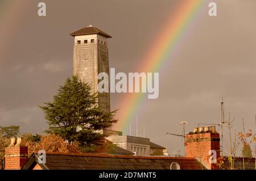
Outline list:
[[[194,128],[185,138],[186,157],[198,158],[207,169],[219,169],[220,134],[215,127]]]

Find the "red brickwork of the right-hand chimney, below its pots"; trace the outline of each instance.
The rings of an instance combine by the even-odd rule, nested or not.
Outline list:
[[[220,134],[187,134],[185,146],[186,157],[201,158],[201,161],[208,169],[219,169],[216,163],[209,163],[209,151],[216,150],[217,160],[220,158]]]

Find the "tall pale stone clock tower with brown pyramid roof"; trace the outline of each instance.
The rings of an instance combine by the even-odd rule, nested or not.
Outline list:
[[[108,38],[111,36],[92,25],[70,34],[75,37],[73,74],[88,82],[92,94],[98,91],[98,74],[109,75]],[[110,112],[109,92],[98,93],[98,106]]]

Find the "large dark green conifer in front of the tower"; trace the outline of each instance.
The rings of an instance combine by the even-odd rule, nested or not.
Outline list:
[[[91,94],[88,83],[77,76],[68,78],[53,97],[53,102],[40,106],[44,111],[49,129],[46,133],[58,134],[69,144],[96,145],[102,138],[102,129],[111,127],[117,120],[113,112],[104,112],[97,106],[98,94]]]

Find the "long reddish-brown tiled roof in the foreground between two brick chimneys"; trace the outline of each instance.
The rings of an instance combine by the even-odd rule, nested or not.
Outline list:
[[[37,164],[35,158],[36,154],[34,153],[22,167],[22,170],[33,169]],[[179,163],[182,170],[202,169],[200,162],[195,158],[67,153],[47,153],[46,164],[39,164],[39,166],[49,170],[170,170],[172,162]]]

